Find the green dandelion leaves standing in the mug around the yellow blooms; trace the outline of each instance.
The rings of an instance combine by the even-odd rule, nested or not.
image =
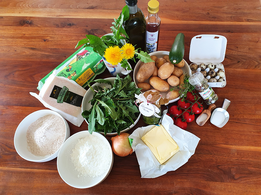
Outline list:
[[[82,39],[77,43],[75,48],[77,48],[80,45],[84,44],[84,47],[90,46],[93,48],[93,51],[98,53],[100,56],[104,56],[104,52],[107,48],[110,46],[119,46],[120,48],[123,46],[121,40],[128,41],[128,35],[126,31],[123,28],[123,22],[129,19],[129,8],[128,6],[124,6],[122,9],[122,12],[118,19],[114,18],[114,22],[112,22],[111,31],[113,33],[113,36],[106,35],[102,38],[97,37],[95,35],[86,35],[87,38]],[[135,46],[134,46],[135,47]],[[137,56],[138,59],[141,61],[147,63],[147,62],[153,62],[151,60],[151,57],[147,52],[139,51],[139,48],[135,48],[134,54]],[[133,58],[135,61],[135,58]],[[127,68],[128,70],[132,70],[131,66],[128,64],[127,59],[123,58],[120,62],[121,66],[123,68]]]

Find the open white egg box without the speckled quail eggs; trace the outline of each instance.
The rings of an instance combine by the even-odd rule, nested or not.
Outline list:
[[[227,38],[221,35],[197,35],[190,43],[189,60],[196,64],[216,64],[225,59]],[[225,72],[224,68],[223,71]],[[226,82],[226,76],[223,78]],[[208,82],[210,87],[225,87],[222,82]]]

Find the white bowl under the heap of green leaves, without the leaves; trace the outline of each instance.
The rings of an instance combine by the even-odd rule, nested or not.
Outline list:
[[[106,78],[106,80],[110,81],[112,84],[114,83],[115,79],[116,79],[115,77]],[[106,84],[106,83],[95,83],[91,87],[93,88],[95,86],[111,88],[111,86],[109,84]],[[83,99],[82,99],[82,112],[84,112],[85,110],[90,110],[91,109],[92,105],[89,103],[89,101],[92,98],[93,98],[92,90],[88,89],[87,92],[85,93]],[[140,116],[141,116],[141,114],[139,114],[138,119],[134,121],[134,125],[137,124],[137,122],[140,119]],[[89,124],[89,122],[86,119],[84,119],[84,120],[87,122],[87,124]],[[134,125],[132,124],[129,128],[123,129],[121,131],[121,133],[129,131],[132,127],[134,127]],[[104,135],[104,132],[99,132],[99,133]],[[116,136],[118,134],[117,133],[106,133],[106,135]]]

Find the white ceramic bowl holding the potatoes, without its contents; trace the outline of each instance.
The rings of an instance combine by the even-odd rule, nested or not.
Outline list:
[[[155,52],[150,53],[149,55],[150,56],[157,56],[157,58],[160,58],[160,57],[163,57],[165,55],[169,55],[169,51],[155,51]],[[184,60],[184,62],[185,62],[185,65],[184,65],[184,67],[181,68],[183,70],[183,74],[187,73],[189,76],[191,76],[191,70],[190,70],[190,68],[188,66],[188,63],[185,60]],[[140,69],[141,63],[142,62],[139,60],[138,63],[136,64],[136,66],[134,68],[134,72],[133,72],[133,79],[134,79],[134,82],[136,84],[136,87],[137,87],[137,83],[138,83],[138,81],[136,79],[136,75],[137,75],[137,73],[138,73],[138,71]],[[150,83],[149,81],[150,81],[150,79],[147,79],[145,82],[146,83]],[[165,81],[167,81],[167,79],[165,79]],[[174,88],[174,87],[169,86],[169,89],[172,89],[172,88]],[[151,89],[154,89],[154,88],[151,87]],[[167,92],[160,92],[160,93],[161,93],[162,97],[165,98],[167,93],[169,93],[169,92],[170,92],[170,90],[168,90]],[[179,99],[180,98],[178,97],[178,98],[176,98],[174,100],[170,100],[169,103],[178,101]]]

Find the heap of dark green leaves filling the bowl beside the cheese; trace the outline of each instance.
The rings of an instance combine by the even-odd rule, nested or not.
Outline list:
[[[114,84],[108,80],[97,79],[97,83],[110,84],[112,88],[96,86],[93,99],[90,101],[92,108],[85,110],[82,116],[88,120],[88,131],[113,133],[130,127],[139,116],[139,110],[135,105],[135,94],[140,94],[140,88],[135,87],[131,76],[121,79],[118,75]]]

